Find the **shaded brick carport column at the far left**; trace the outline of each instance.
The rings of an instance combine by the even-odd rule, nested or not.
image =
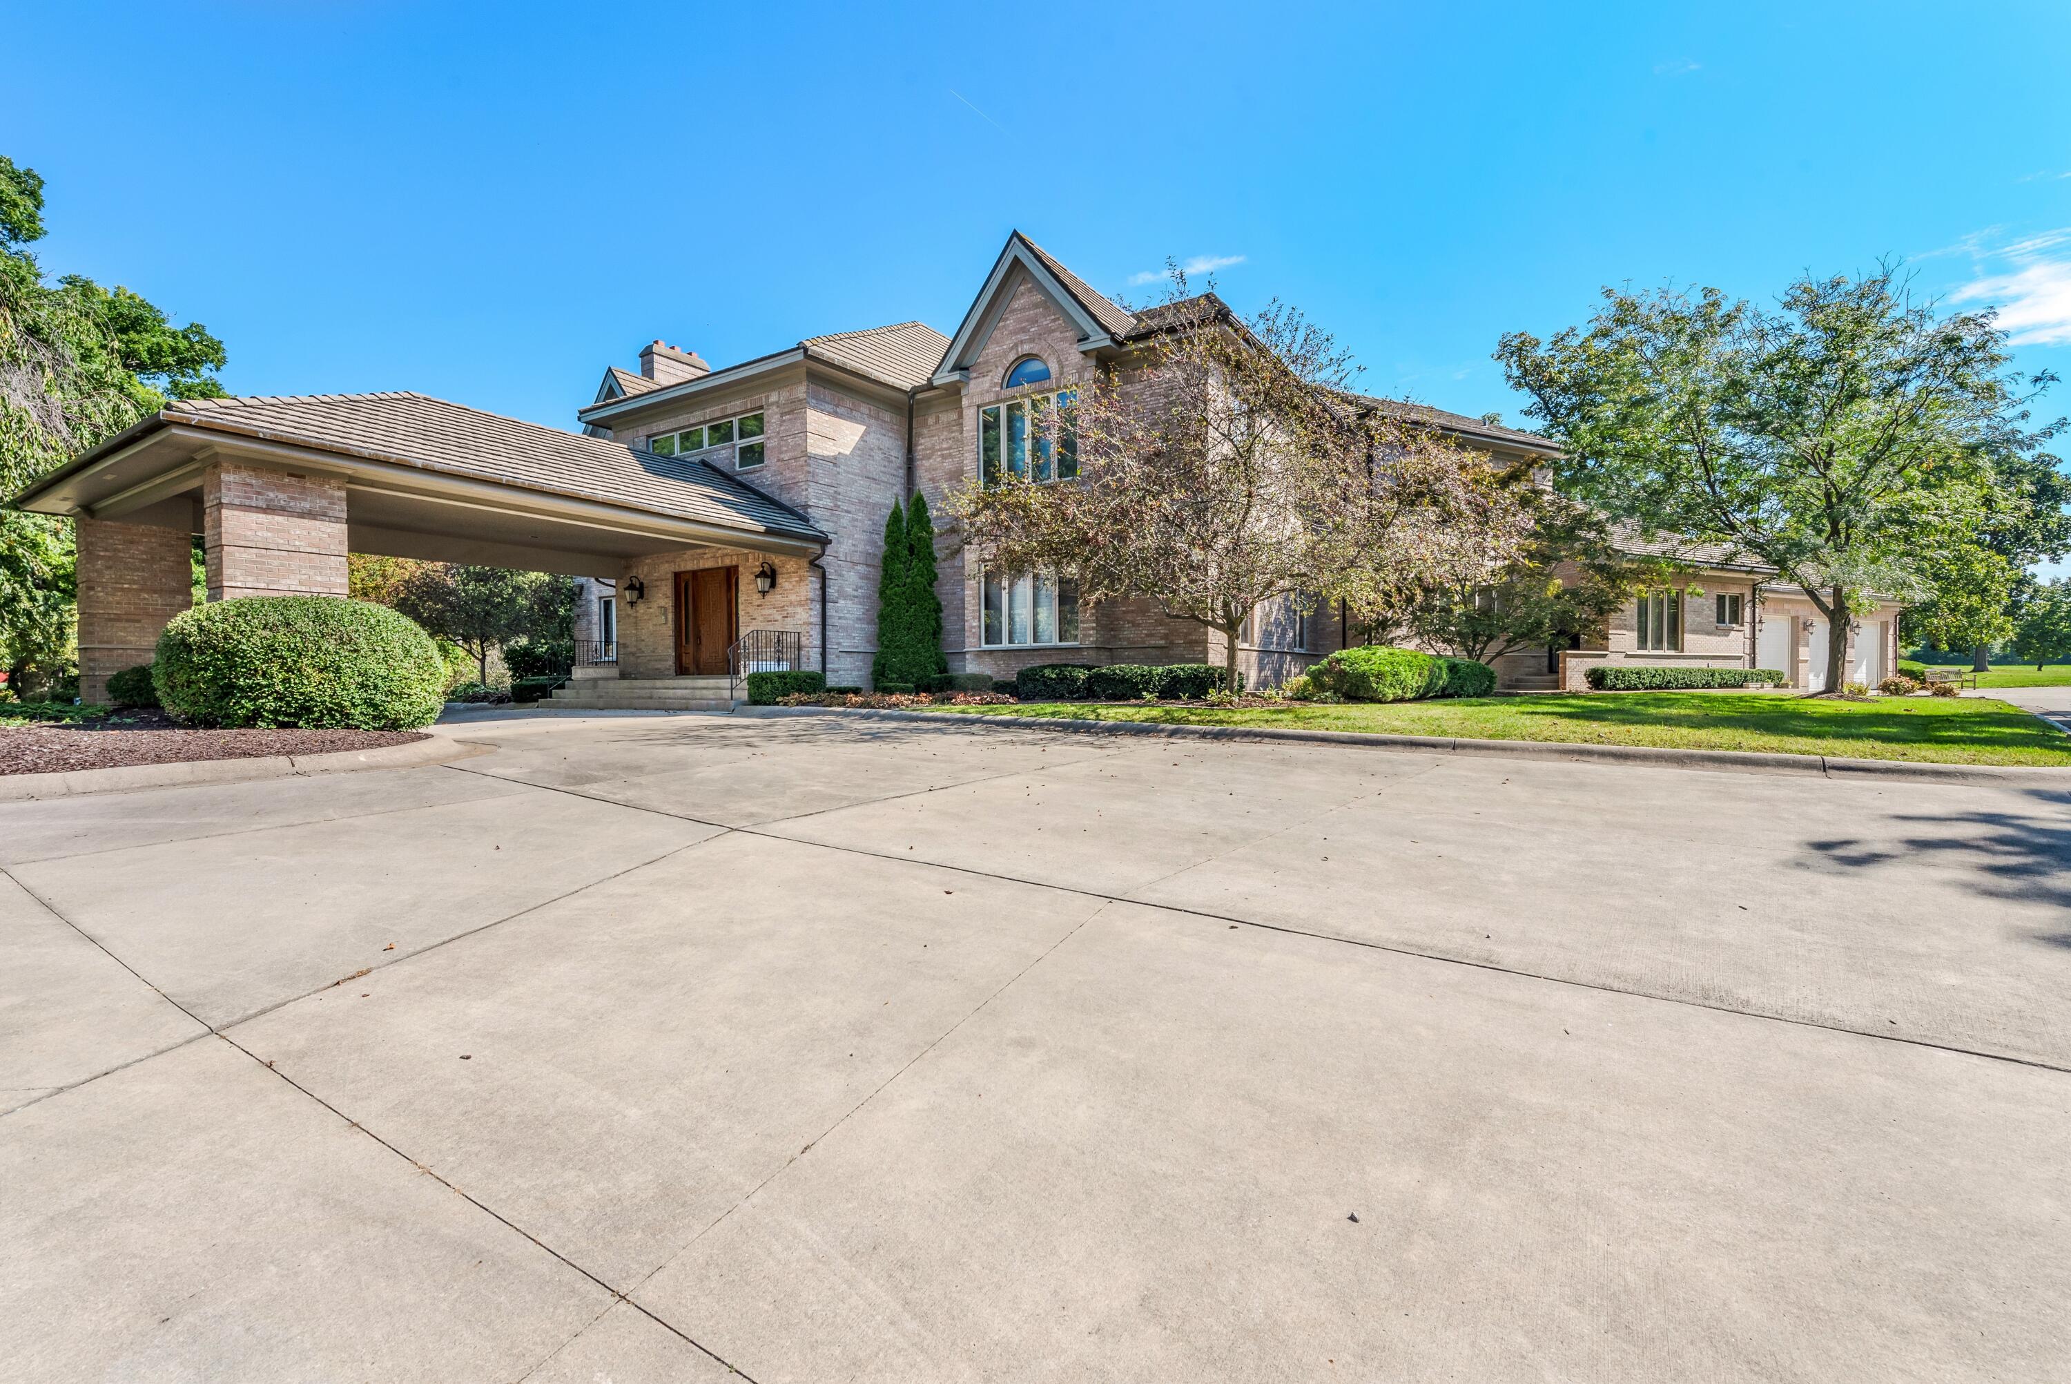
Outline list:
[[[166,622],[195,603],[193,535],[155,524],[79,526],[79,698],[108,700],[108,675],[149,663]]]

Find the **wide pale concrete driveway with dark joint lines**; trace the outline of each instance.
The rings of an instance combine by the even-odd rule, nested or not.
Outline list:
[[[2067,1378],[2061,789],[447,733],[0,806],[0,1374]]]

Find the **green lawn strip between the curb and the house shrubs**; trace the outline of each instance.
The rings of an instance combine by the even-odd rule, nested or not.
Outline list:
[[[1988,698],[1883,696],[1843,702],[1779,692],[1599,692],[1336,707],[1023,702],[944,711],[1675,750],[1764,750],[1943,765],[2071,765],[2071,736],[2017,707]]]

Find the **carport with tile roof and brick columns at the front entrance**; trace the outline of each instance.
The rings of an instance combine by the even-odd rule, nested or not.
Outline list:
[[[83,700],[151,661],[207,597],[344,597],[346,553],[617,576],[683,549],[814,559],[804,514],[696,458],[654,456],[422,394],[182,400],[12,501],[79,524]]]

